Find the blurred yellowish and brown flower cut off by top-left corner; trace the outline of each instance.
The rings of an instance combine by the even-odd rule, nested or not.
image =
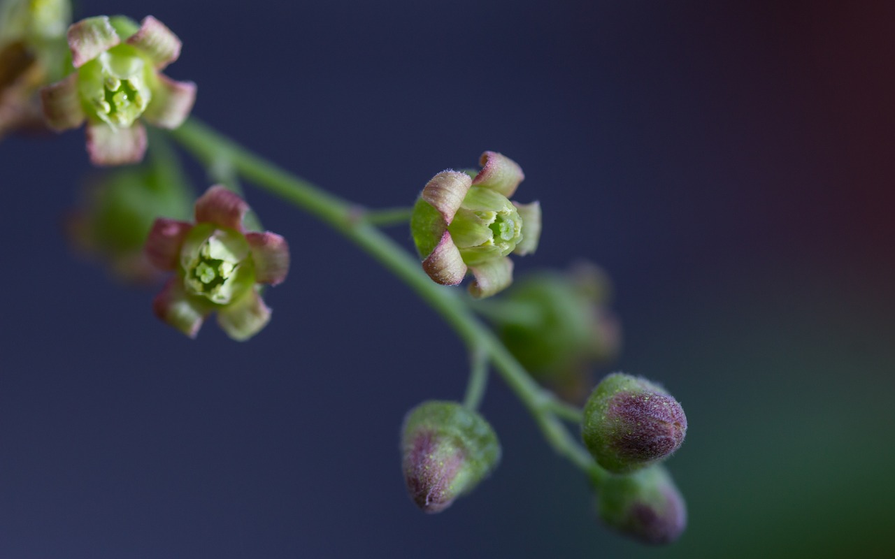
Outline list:
[[[68,0],[0,2],[0,138],[44,128],[38,89],[64,73]]]

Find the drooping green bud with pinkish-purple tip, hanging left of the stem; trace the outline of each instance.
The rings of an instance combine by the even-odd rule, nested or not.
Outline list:
[[[469,493],[500,461],[494,430],[457,402],[423,402],[401,435],[407,491],[423,512],[441,512]]]

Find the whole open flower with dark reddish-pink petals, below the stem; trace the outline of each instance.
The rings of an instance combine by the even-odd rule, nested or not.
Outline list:
[[[195,337],[217,311],[217,324],[244,341],[270,320],[257,284],[277,285],[289,271],[289,247],[275,233],[246,233],[249,206],[223,186],[196,200],[195,224],[159,218],[149,231],[146,255],[155,267],[174,271],[152,308],[158,318]]]

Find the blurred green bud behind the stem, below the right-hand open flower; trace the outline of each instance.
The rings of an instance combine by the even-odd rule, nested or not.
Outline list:
[[[477,307],[533,377],[570,402],[590,393],[591,368],[618,355],[609,278],[592,264],[526,275],[500,300]]]

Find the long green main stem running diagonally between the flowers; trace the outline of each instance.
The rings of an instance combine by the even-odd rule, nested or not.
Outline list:
[[[249,182],[270,192],[342,233],[397,275],[424,301],[429,303],[452,326],[468,347],[487,351],[494,367],[524,406],[532,413],[541,431],[554,450],[587,472],[598,483],[606,477],[584,448],[553,415],[551,405],[556,398],[541,389],[502,343],[475,318],[473,312],[455,291],[432,282],[422,272],[420,263],[411,258],[395,241],[372,224],[357,219],[354,205],[303,181],[268,161],[255,156],[232,140],[190,119],[175,131],[173,137],[184,148],[206,164],[217,157],[227,157],[234,169]]]

